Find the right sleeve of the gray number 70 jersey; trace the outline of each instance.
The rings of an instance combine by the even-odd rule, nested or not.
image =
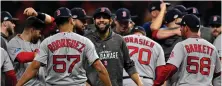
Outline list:
[[[158,44],[158,51],[159,51],[159,55],[158,55],[158,58],[157,58],[157,66],[160,66],[160,65],[165,65],[166,62],[165,62],[165,57],[164,57],[164,52],[163,52],[163,48]]]

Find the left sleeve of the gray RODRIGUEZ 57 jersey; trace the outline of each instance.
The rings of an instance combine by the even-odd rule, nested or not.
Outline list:
[[[36,53],[34,60],[40,62],[42,65],[46,65],[47,57],[48,57],[47,40],[44,40],[40,44],[39,52]]]

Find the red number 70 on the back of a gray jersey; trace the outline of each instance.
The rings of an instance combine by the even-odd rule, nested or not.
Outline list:
[[[135,53],[139,53],[138,61],[139,61],[140,64],[145,64],[145,65],[150,64],[150,59],[151,59],[152,52],[149,49],[145,49],[145,48],[139,49],[138,47],[135,47],[135,46],[128,46],[128,49],[133,50],[132,52],[130,52],[130,57],[133,56],[133,54],[135,54]],[[147,52],[147,60],[146,61],[144,61],[142,59],[144,52]]]

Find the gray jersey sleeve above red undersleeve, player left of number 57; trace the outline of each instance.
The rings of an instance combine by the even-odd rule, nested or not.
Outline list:
[[[15,61],[16,56],[19,53],[24,51],[22,46],[16,40],[9,41],[7,50],[8,50],[8,54],[10,55],[10,58],[11,58],[12,62]]]

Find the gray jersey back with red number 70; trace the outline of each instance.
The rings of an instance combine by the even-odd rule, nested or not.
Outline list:
[[[155,68],[165,65],[163,49],[150,38],[142,35],[124,36],[130,57],[142,77],[155,78]]]

